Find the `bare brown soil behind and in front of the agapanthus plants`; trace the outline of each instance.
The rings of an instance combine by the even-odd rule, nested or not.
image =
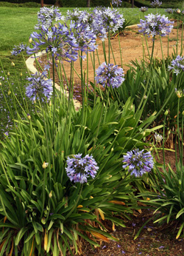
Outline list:
[[[177,45],[177,29],[174,29],[169,36],[169,55],[171,53],[176,52]],[[179,30],[179,40],[181,38],[181,29]],[[103,51],[102,51],[102,42],[97,41],[99,44],[98,53],[100,64],[104,62]],[[111,38],[111,44],[113,48],[113,53],[115,55],[116,64],[121,67],[121,58],[119,53],[118,46],[118,38],[113,36]],[[132,27],[131,29],[125,30],[124,34],[120,37],[121,44],[121,53],[123,60],[123,68],[126,73],[130,68],[129,65],[131,61],[135,61],[137,59],[140,61],[143,58],[143,44],[145,47],[145,55],[148,58],[149,53],[152,51],[152,39],[148,39],[148,49],[149,53],[146,49],[146,42],[144,37],[142,37],[138,33],[137,27]],[[107,41],[105,41],[106,49]],[[168,39],[162,38],[162,47],[163,47],[163,55],[167,56],[168,49]],[[108,51],[107,51],[108,53]],[[180,53],[180,46],[178,45],[178,53]],[[161,47],[160,47],[160,38],[158,37],[155,40],[155,58],[162,58]],[[97,56],[95,57],[95,67],[99,67],[99,62]],[[46,56],[43,56],[39,59],[40,66],[44,67],[44,64],[47,64],[48,61]],[[83,70],[86,69],[87,61],[83,61]],[[113,55],[110,54],[110,63],[114,63]],[[70,78],[70,64],[66,61],[63,63],[66,75]],[[79,61],[74,63],[74,68],[79,73],[80,65]],[[79,86],[79,78],[77,73],[74,73],[74,98],[81,101],[80,96],[80,86]],[[93,81],[93,67],[91,64],[91,57],[89,56],[89,76],[88,80]],[[51,71],[52,78],[52,71]],[[56,82],[59,84],[59,78],[56,77]],[[177,154],[178,155],[178,154]],[[159,152],[158,162],[163,164],[163,155],[162,152]],[[171,168],[175,168],[175,153],[171,151],[166,151],[166,163],[171,164]],[[164,229],[164,227],[158,227],[149,223],[149,226],[145,226],[141,235],[133,240],[135,234],[138,232],[138,229],[144,224],[146,219],[152,217],[152,212],[149,210],[140,210],[135,211],[132,216],[132,220],[127,221],[126,228],[116,227],[115,231],[112,231],[112,227],[109,227],[109,231],[112,232],[112,235],[119,239],[118,242],[110,241],[110,243],[105,243],[103,241],[100,242],[100,247],[91,249],[91,246],[88,243],[85,243],[82,249],[82,255],[85,256],[181,256],[184,255],[184,243],[183,239],[176,240],[177,230],[174,230],[173,226],[169,227],[169,229]]]

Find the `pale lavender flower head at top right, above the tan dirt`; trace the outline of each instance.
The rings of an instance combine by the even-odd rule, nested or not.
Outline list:
[[[160,14],[149,14],[148,16],[145,16],[145,20],[141,19],[140,24],[138,24],[138,27],[141,28],[141,30],[138,30],[140,33],[144,33],[144,35],[147,35],[148,37],[152,36],[152,38],[155,38],[155,36],[166,36],[171,33],[171,30],[173,28],[174,21],[169,21],[169,18],[165,15],[160,16]]]

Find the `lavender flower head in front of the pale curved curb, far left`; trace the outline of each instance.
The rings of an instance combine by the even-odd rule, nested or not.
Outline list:
[[[32,74],[32,77],[27,78],[29,85],[26,87],[26,96],[31,100],[35,101],[36,99],[40,101],[49,101],[52,97],[52,79],[46,79],[47,73],[36,72]]]

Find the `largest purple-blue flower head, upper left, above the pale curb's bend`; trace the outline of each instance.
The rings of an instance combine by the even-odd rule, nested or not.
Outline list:
[[[35,54],[40,50],[52,53],[52,56],[60,57],[66,61],[76,61],[78,58],[78,44],[72,29],[66,24],[57,24],[54,27],[42,27],[40,33],[31,34],[32,47],[27,47],[27,54]]]

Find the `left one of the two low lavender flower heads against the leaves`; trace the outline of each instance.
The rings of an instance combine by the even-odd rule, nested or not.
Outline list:
[[[66,174],[74,183],[87,183],[89,177],[95,178],[99,169],[92,155],[85,155],[82,158],[82,154],[77,154],[74,158],[68,157],[66,163]]]

